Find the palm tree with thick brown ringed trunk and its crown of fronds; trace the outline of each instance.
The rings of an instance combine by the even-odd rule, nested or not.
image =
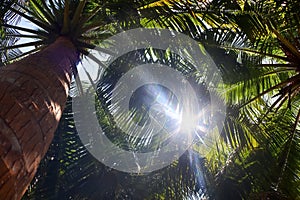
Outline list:
[[[160,17],[159,10],[168,8],[168,4],[157,8],[156,3],[152,3],[122,0],[3,3],[10,12],[39,29],[14,25],[8,21],[9,15],[5,15],[2,22],[6,37],[34,41],[2,46],[1,52],[34,48],[1,57],[6,64],[0,71],[0,87],[4,91],[0,100],[1,197],[20,199],[34,177],[58,126],[80,55],[88,54],[87,49],[95,47],[93,42],[109,35],[103,31],[115,33],[120,28],[143,26],[147,19],[153,21]]]

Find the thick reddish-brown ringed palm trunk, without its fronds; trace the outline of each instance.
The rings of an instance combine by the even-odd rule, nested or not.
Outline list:
[[[65,37],[0,69],[0,199],[21,199],[48,150],[79,57]]]

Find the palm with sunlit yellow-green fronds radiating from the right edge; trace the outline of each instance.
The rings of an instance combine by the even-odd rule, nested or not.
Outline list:
[[[225,15],[247,36],[228,41],[216,30],[217,44],[207,43],[240,66],[224,69],[231,74],[223,92],[230,107],[217,152],[207,153],[216,198],[299,199],[299,2],[214,3],[229,6]]]

